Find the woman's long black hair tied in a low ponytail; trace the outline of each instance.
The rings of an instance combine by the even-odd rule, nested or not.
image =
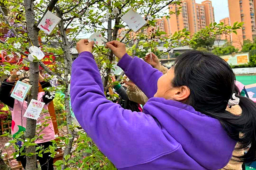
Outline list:
[[[249,148],[247,153],[237,157],[240,161],[255,161],[256,104],[238,95],[235,74],[228,63],[211,53],[188,51],[177,57],[174,74],[174,87],[186,85],[190,89],[185,103],[218,119],[228,135],[238,141],[237,150]],[[233,93],[240,99],[241,115],[226,111]]]

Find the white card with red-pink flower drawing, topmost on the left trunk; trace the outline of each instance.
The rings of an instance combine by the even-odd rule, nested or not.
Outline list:
[[[47,34],[50,34],[54,27],[60,22],[60,18],[54,15],[52,12],[47,11],[44,18],[38,24],[38,28]]]

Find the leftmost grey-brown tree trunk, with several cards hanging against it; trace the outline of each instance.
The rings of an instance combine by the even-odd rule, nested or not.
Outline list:
[[[38,29],[35,25],[35,14],[34,14],[34,1],[32,0],[24,0],[24,7],[26,12],[26,26],[28,30],[28,39],[30,40],[29,46],[39,46],[38,43]],[[30,95],[28,96],[28,104],[31,99],[37,100],[38,93],[38,72],[39,72],[39,63],[38,62],[30,62],[29,65],[29,81],[32,85],[30,90]],[[36,120],[27,118],[27,126],[26,126],[26,138],[32,139],[36,134]],[[29,146],[26,149],[26,153],[36,153],[35,146]],[[35,170],[36,169],[36,155],[27,156],[27,170]]]

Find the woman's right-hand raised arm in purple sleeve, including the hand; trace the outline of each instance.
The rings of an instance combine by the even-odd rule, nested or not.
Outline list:
[[[107,47],[120,59],[117,65],[124,70],[125,75],[128,76],[148,98],[154,97],[157,91],[157,80],[163,73],[154,69],[140,58],[132,58],[129,56],[126,53],[125,45],[121,42],[108,42]]]

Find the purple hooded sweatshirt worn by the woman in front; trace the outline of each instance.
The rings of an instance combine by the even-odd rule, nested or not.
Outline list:
[[[77,121],[119,170],[220,169],[235,148],[217,119],[189,105],[153,97],[163,74],[125,54],[118,65],[148,96],[143,112],[106,99],[90,52],[73,62],[71,105]]]

